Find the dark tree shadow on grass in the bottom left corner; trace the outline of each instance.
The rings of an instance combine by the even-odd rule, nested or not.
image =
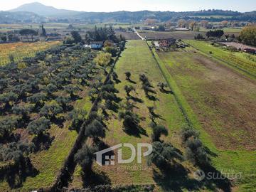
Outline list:
[[[6,180],[10,188],[20,188],[28,176],[34,177],[39,171],[33,167],[29,158],[21,159],[18,164],[6,166],[0,171],[0,181]]]

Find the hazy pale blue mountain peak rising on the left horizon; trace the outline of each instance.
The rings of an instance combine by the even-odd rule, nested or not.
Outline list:
[[[17,11],[32,12],[34,14],[38,14],[41,16],[61,16],[61,15],[69,16],[69,15],[79,13],[79,11],[56,9],[53,6],[46,6],[38,2],[31,3],[31,4],[23,4],[22,6],[18,6],[16,9],[10,10],[10,12],[17,12]]]

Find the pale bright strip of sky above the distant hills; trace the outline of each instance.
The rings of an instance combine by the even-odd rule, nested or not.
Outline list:
[[[35,1],[58,9],[94,12],[198,11],[202,9],[256,11],[256,0],[0,0],[0,10],[7,11]]]

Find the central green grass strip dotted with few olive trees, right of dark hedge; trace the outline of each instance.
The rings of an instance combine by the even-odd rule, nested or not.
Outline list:
[[[149,127],[149,111],[146,107],[154,106],[156,107],[156,113],[160,114],[163,120],[159,119],[161,124],[164,124],[169,129],[169,137],[166,137],[166,141],[175,144],[176,146],[181,146],[177,137],[173,137],[178,134],[178,129],[185,124],[185,119],[181,114],[181,110],[178,108],[178,104],[173,95],[165,94],[159,91],[159,88],[156,86],[158,82],[165,82],[164,77],[161,75],[161,71],[156,65],[156,61],[152,57],[149,48],[146,46],[144,41],[128,41],[126,50],[119,58],[119,61],[116,64],[114,71],[119,76],[119,82],[115,85],[117,90],[119,90],[118,97],[122,98],[122,103],[125,99],[124,86],[125,85],[134,85],[136,87],[136,93],[132,93],[132,96],[142,99],[143,102],[134,102],[137,106],[136,113],[140,117],[144,117],[144,120],[141,122],[142,129],[146,131],[146,134],[140,134],[139,137],[134,137],[133,135],[128,135],[122,130],[122,122],[119,122],[117,119],[118,114],[116,112],[109,111],[110,119],[107,119],[105,122],[108,127],[107,137],[104,139],[104,142],[109,146],[113,146],[119,143],[131,143],[134,146],[137,143],[151,142],[151,128]],[[137,84],[133,84],[125,80],[124,73],[130,71],[132,73],[132,80]],[[146,98],[144,91],[141,88],[141,82],[139,81],[139,74],[144,73],[152,85],[154,90],[157,92],[158,101],[154,102]],[[119,103],[119,105],[122,105]],[[124,159],[129,157],[130,151],[124,150],[123,152]],[[146,160],[144,159],[142,164],[137,164],[137,162],[132,162],[131,164],[124,166],[146,166]],[[103,171],[107,177],[110,179],[111,183],[115,185],[119,184],[131,184],[131,183],[156,183],[154,181],[152,167],[146,171],[122,171],[122,165],[114,167],[100,167],[95,164],[95,171]],[[79,169],[77,170],[79,171]],[[125,179],[124,179],[125,178]],[[76,184],[74,183],[76,182]],[[78,178],[75,178],[75,181],[72,183],[72,186],[77,185],[79,182]],[[160,190],[160,188],[159,188]]]

